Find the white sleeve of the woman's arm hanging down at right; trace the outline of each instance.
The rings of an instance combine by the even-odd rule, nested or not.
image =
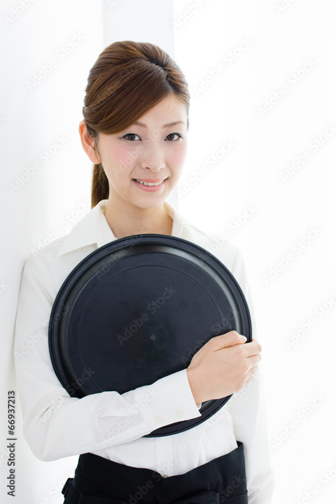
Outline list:
[[[238,250],[233,275],[246,297],[252,320],[252,337],[258,339],[250,286],[242,254]],[[274,474],[268,449],[267,422],[262,378],[262,359],[252,381],[227,403],[236,439],[244,444],[249,504],[270,504]]]

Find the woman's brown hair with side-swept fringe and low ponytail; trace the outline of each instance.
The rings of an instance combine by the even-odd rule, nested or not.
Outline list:
[[[125,130],[169,94],[185,103],[188,116],[188,84],[175,61],[160,47],[132,40],[106,47],[90,70],[83,107],[95,151],[99,133],[112,135]],[[108,199],[108,194],[103,166],[94,164],[91,208]]]

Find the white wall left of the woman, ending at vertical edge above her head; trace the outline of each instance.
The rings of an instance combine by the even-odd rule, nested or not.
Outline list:
[[[2,247],[0,266],[0,499],[4,503],[63,502],[60,490],[78,461],[76,456],[45,463],[31,453],[22,435],[12,355],[17,298],[27,256],[32,249],[68,233],[91,207],[92,165],[80,144],[78,124],[87,75],[103,48],[102,9],[99,2],[94,4],[88,0],[1,4],[0,191],[6,248]],[[34,74],[43,70],[45,75],[39,81]],[[16,391],[17,400],[14,498],[7,494],[9,390]]]

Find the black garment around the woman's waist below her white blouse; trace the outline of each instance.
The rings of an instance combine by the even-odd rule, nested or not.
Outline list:
[[[80,455],[64,504],[247,504],[243,444],[191,471],[162,476],[92,453]]]

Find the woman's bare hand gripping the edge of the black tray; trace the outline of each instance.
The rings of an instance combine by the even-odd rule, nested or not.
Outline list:
[[[214,336],[194,354],[187,376],[196,404],[230,396],[252,380],[261,346],[243,338],[237,331]]]

